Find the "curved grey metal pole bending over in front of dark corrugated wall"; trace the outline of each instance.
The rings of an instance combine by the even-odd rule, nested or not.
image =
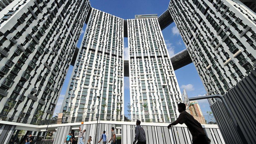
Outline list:
[[[205,96],[193,97],[193,98],[188,98],[188,99],[189,100],[200,100],[200,99],[210,99],[210,98],[220,98],[221,99],[221,102],[223,103],[225,109],[227,110],[227,113],[237,131],[238,136],[240,137],[242,143],[246,144],[247,143],[246,138],[244,137],[244,134],[242,133],[241,128],[238,126],[236,119],[234,118],[233,114],[231,113],[231,110],[228,107],[226,100],[224,99],[224,97],[222,95],[219,95],[219,94],[205,95]]]

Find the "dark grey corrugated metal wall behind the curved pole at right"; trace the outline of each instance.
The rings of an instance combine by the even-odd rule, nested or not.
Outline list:
[[[247,143],[256,143],[256,71],[255,69],[239,81],[224,95],[234,118]],[[226,143],[241,143],[223,104],[216,101],[212,112]]]

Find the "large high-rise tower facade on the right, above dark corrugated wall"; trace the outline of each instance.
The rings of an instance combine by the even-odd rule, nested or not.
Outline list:
[[[207,94],[224,94],[255,67],[256,15],[237,0],[170,1]]]

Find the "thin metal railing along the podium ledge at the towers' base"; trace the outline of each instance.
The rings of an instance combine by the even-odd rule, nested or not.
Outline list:
[[[201,124],[217,124],[214,116],[212,115],[203,115],[203,116],[194,116],[194,118],[199,121]],[[174,121],[174,118],[164,118],[163,115],[112,115],[112,114],[87,114],[84,116],[63,116],[61,119],[31,119],[22,116],[13,116],[13,115],[4,115],[0,114],[0,119],[2,121],[10,122],[19,122],[23,124],[32,124],[32,125],[48,125],[48,124],[66,124],[74,122],[86,122],[86,121],[132,121],[136,122],[140,120],[141,122],[162,122],[162,123],[171,123]]]

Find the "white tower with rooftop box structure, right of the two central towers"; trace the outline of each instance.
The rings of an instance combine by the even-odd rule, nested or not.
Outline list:
[[[157,15],[127,19],[131,119],[169,122],[182,102]]]

